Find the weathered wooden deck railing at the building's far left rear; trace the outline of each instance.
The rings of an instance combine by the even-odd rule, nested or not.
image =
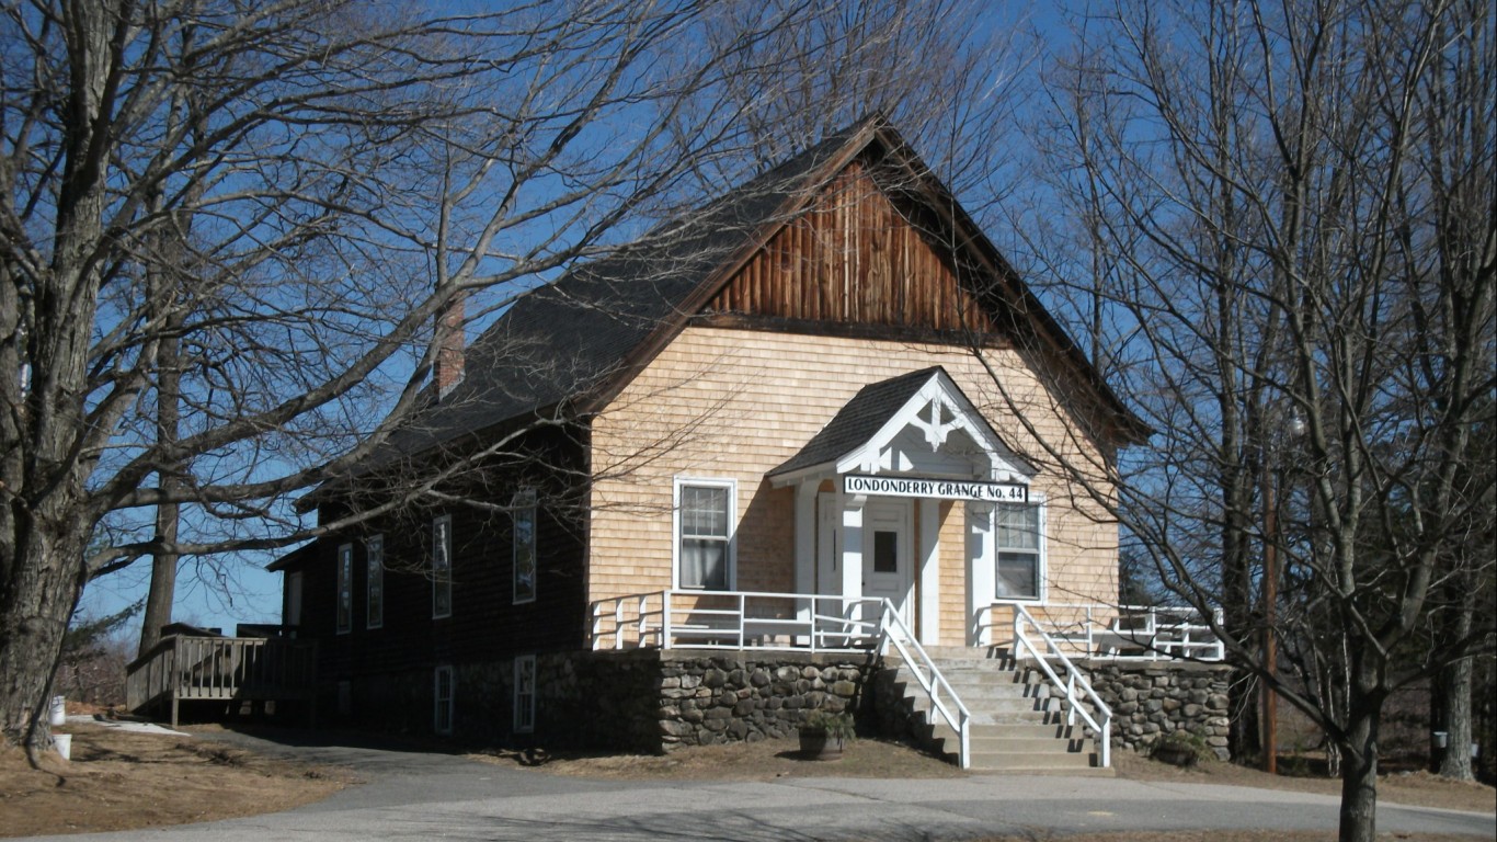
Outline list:
[[[126,703],[144,713],[181,701],[301,701],[317,683],[317,644],[286,638],[172,635],[126,667]]]

